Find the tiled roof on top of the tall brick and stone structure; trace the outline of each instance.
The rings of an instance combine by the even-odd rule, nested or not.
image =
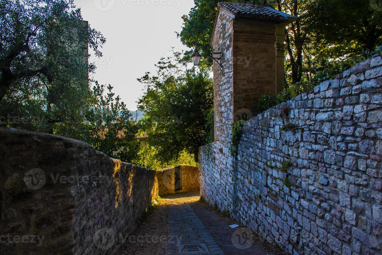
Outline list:
[[[220,6],[227,8],[235,16],[256,17],[266,19],[288,20],[288,18],[295,17],[275,10],[272,7],[262,5],[249,5],[244,3],[219,3]]]

